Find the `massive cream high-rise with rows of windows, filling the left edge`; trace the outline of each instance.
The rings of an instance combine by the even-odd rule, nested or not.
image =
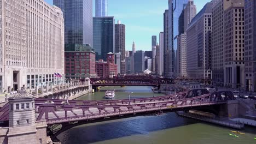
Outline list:
[[[0,91],[64,79],[64,21],[43,0],[0,1]],[[56,78],[54,73],[60,74]]]

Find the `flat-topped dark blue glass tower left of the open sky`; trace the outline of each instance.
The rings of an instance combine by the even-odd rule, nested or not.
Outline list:
[[[113,16],[94,17],[94,50],[96,60],[107,60],[107,53],[115,53],[115,19]]]

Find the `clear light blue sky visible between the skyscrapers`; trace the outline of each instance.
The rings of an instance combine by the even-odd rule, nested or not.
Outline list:
[[[44,0],[53,4],[53,0]],[[64,0],[63,0],[64,1]],[[93,0],[94,1],[94,0]],[[211,0],[194,0],[199,12]],[[121,21],[126,26],[126,50],[151,50],[152,35],[163,31],[163,13],[168,9],[168,0],[108,0],[108,16]],[[95,13],[94,13],[95,15]]]

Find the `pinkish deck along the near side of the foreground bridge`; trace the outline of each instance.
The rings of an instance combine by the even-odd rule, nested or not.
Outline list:
[[[172,111],[180,111],[181,109],[190,108],[193,109],[193,107],[200,107],[200,106],[206,106],[206,105],[217,105],[217,104],[225,104],[225,101],[222,102],[209,102],[209,103],[192,103],[192,104],[174,104],[174,103],[168,103],[167,105],[162,104],[156,104],[156,105],[147,105],[145,107],[141,106],[131,106],[125,107],[122,106],[120,109],[114,110],[111,107],[107,107],[104,109],[104,111],[100,112],[97,108],[89,108],[89,110],[86,110],[84,113],[80,109],[74,109],[72,111],[67,112],[67,117],[65,116],[65,111],[57,111],[55,112],[59,118],[56,118],[54,113],[49,113],[49,118],[47,119],[47,124],[56,124],[56,123],[65,123],[65,122],[74,122],[74,121],[89,121],[92,119],[97,118],[110,118],[113,116],[124,116],[124,115],[136,115],[136,113],[147,113],[147,112],[154,112],[154,111],[163,111],[163,110],[172,110]],[[39,115],[39,114],[37,114]],[[43,119],[41,119],[43,120]]]

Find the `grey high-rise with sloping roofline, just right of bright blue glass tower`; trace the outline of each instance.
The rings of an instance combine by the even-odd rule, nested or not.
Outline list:
[[[211,79],[211,31],[214,1],[207,3],[187,29],[187,76]]]

